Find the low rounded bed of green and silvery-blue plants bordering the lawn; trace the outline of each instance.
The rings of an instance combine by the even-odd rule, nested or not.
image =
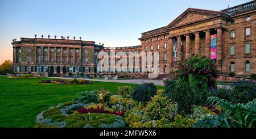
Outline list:
[[[36,116],[34,127],[100,127],[120,128],[125,127],[121,116],[110,113],[79,113],[77,108],[90,106],[90,104],[77,104],[67,102],[51,107]]]

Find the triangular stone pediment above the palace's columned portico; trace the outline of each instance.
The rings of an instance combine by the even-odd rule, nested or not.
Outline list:
[[[185,24],[200,22],[201,20],[214,18],[225,14],[221,11],[202,10],[189,8],[179,15],[173,22],[168,24],[165,29],[183,26]]]

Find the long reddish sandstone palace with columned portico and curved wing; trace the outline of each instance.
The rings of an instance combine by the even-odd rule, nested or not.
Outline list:
[[[158,71],[166,76],[175,71],[177,61],[194,54],[216,61],[224,74],[256,73],[255,1],[221,11],[188,8],[167,26],[142,33],[139,40],[139,46],[119,47],[115,51],[159,52]],[[12,44],[16,73],[98,73],[97,54],[104,50],[110,56],[110,48],[75,37],[20,38]],[[129,62],[135,63],[135,59]],[[141,64],[141,59],[137,62]],[[138,68],[127,67],[125,71],[142,74]],[[116,70],[110,68],[108,72]]]

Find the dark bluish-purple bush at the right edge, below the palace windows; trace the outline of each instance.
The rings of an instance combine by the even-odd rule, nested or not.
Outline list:
[[[256,98],[256,84],[249,81],[238,81],[230,90],[230,101],[233,103],[247,103]]]

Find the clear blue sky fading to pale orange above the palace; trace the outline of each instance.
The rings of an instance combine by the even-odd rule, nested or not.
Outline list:
[[[142,32],[167,26],[188,7],[223,10],[250,0],[0,0],[0,64],[13,60],[12,39],[48,35],[105,47],[141,45]]]

